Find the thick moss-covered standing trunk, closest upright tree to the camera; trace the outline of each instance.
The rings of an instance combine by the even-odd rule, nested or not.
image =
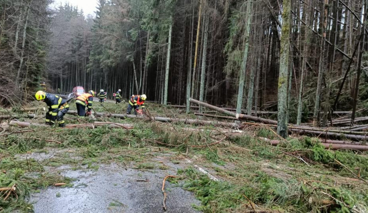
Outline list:
[[[281,50],[280,50],[280,74],[278,80],[278,113],[277,113],[277,133],[282,137],[288,136],[288,124],[286,123],[287,113],[287,87],[288,87],[288,67],[290,48],[290,0],[284,0],[281,29]]]

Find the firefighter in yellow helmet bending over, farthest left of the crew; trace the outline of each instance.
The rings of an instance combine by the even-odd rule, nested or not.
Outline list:
[[[57,120],[59,127],[65,127],[64,115],[69,110],[69,104],[61,97],[44,91],[38,91],[35,94],[37,101],[43,101],[49,106],[46,113],[46,124],[54,125]]]

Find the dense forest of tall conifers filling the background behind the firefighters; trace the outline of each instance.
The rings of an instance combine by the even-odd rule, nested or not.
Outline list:
[[[365,0],[99,0],[96,17],[49,4],[0,4],[2,103],[44,80],[315,126],[367,104]]]

